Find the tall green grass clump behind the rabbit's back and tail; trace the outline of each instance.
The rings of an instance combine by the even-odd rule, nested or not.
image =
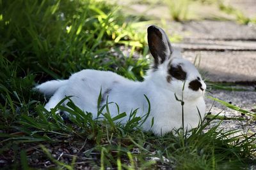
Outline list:
[[[0,9],[4,124],[33,108],[39,99],[31,92],[35,82],[67,78],[86,68],[141,80],[148,67],[147,60],[134,60],[119,50],[126,46],[147,53],[145,34],[136,32],[126,16],[104,1],[14,0],[1,1]]]

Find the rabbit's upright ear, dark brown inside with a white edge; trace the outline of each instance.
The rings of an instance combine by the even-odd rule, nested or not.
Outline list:
[[[163,29],[155,25],[148,27],[148,47],[154,57],[155,68],[168,60],[173,52],[168,36]]]

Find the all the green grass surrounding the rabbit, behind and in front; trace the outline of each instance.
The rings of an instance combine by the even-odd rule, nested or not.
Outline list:
[[[236,136],[218,125],[205,131],[215,116],[192,131],[157,137],[141,131],[144,118],[136,111],[124,125],[113,121],[125,113],[111,118],[99,108],[106,119],[93,120],[72,101],[69,108],[44,110],[44,96],[32,90],[36,83],[81,69],[143,80],[150,62],[147,26],[138,31],[145,24],[140,18],[95,0],[0,1],[0,8],[0,168],[246,169],[255,164],[255,134]],[[57,110],[68,111],[70,118],[63,120]]]

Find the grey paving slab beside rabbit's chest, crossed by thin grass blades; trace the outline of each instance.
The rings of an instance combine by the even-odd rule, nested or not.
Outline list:
[[[213,90],[209,96],[216,97],[223,101],[231,102],[232,104],[239,106],[244,110],[251,111],[255,110],[256,108],[256,92],[230,92],[224,90]],[[221,122],[219,129],[223,129],[224,131],[241,131],[234,135],[246,133],[250,135],[256,132],[256,122],[252,117],[248,117],[246,115],[242,116],[239,111],[231,110],[225,106],[222,106],[220,103],[212,101],[212,99],[207,99],[207,97],[205,97],[205,102],[207,105],[207,111],[209,111],[212,107],[212,115],[216,115],[221,112],[220,115],[227,118],[245,118],[245,120],[222,120],[223,122]],[[207,129],[219,123],[220,120],[214,120],[211,122],[209,127],[207,127]]]

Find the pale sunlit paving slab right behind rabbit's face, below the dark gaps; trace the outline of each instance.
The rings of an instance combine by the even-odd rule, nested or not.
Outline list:
[[[184,52],[211,81],[256,81],[256,52]]]

